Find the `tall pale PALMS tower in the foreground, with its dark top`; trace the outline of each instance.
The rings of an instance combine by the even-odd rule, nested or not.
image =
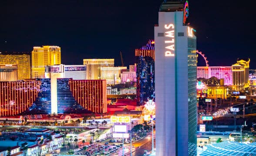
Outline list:
[[[155,26],[157,156],[196,156],[196,36],[188,1],[162,3]]]

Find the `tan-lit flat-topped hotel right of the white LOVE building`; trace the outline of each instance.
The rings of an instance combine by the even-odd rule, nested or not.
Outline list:
[[[100,80],[101,67],[114,67],[114,58],[111,59],[84,59],[87,67],[87,80]]]

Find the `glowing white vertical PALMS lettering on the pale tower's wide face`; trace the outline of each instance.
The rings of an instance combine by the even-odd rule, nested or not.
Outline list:
[[[174,42],[174,25],[173,24],[165,24],[165,29],[167,29],[168,31],[166,31],[166,37],[169,37],[168,40],[165,40],[165,43],[168,44],[168,46],[165,47],[166,51],[165,51],[165,56],[174,56],[174,51],[175,51],[175,42]]]

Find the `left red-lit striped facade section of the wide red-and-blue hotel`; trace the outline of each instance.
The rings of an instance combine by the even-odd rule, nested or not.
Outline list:
[[[36,80],[0,82],[0,116],[28,110],[40,92],[40,84]]]

